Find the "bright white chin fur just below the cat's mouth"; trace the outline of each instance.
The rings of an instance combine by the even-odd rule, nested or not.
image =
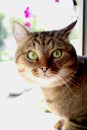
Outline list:
[[[54,88],[64,84],[58,76],[49,76],[49,75],[42,75],[40,77],[35,77],[30,75],[29,73],[26,74],[29,80],[32,80],[34,85],[44,88]]]

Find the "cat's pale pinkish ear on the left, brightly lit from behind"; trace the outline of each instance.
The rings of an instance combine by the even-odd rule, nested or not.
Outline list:
[[[16,21],[13,22],[13,34],[16,41],[20,42],[25,41],[29,36],[27,29],[25,29],[23,25],[19,24]]]

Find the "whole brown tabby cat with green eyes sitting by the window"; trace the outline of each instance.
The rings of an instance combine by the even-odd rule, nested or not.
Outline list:
[[[18,71],[41,88],[49,110],[61,117],[58,130],[87,130],[87,57],[77,56],[68,38],[76,22],[44,32],[13,22]]]

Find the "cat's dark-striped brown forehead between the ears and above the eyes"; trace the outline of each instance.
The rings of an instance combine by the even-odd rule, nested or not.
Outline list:
[[[57,48],[66,48],[68,42],[66,42],[63,32],[59,31],[44,31],[44,32],[31,32],[29,33],[29,39],[24,44],[24,49],[34,49],[37,51],[49,51]],[[26,45],[26,46],[25,46]]]

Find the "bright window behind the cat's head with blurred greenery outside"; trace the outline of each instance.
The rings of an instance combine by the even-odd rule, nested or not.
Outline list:
[[[31,31],[38,30],[57,30],[65,27],[70,22],[78,18],[76,31],[74,33],[73,44],[77,53],[82,55],[82,22],[83,22],[83,1],[79,0],[78,6],[74,7],[73,0],[8,0],[9,4],[4,4],[1,0],[0,4],[0,23],[3,30],[1,30],[1,37],[3,42],[0,42],[0,48],[5,48],[1,53],[1,60],[11,59],[14,56],[15,40],[12,35],[12,21],[16,20],[22,24],[30,23]],[[26,18],[24,11],[29,7],[30,17]],[[29,24],[27,25],[29,26]],[[3,33],[3,34],[2,34]],[[77,35],[77,36],[76,36]],[[8,44],[9,43],[9,44]]]

